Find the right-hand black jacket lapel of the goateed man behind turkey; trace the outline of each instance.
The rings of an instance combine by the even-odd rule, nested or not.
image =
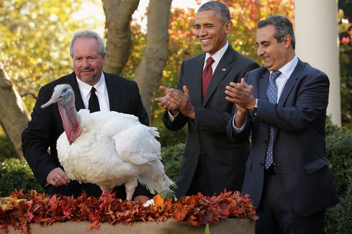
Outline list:
[[[103,71],[104,72],[104,71]],[[120,110],[120,90],[117,87],[117,79],[111,76],[111,74],[104,72],[106,88],[108,90],[109,105],[111,111]]]

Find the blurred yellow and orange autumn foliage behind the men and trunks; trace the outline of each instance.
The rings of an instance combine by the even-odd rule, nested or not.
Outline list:
[[[200,4],[200,0],[196,0]],[[229,42],[238,52],[262,60],[256,54],[256,24],[270,14],[282,14],[294,22],[294,0],[222,0],[230,9],[234,28]],[[349,8],[348,0],[345,8]],[[97,14],[82,16],[81,6],[94,4]],[[344,3],[341,3],[344,4]],[[350,3],[351,4],[351,3]],[[80,20],[73,15],[80,14]],[[349,13],[350,14],[350,13]],[[15,82],[19,94],[29,111],[32,110],[39,87],[72,72],[69,42],[74,32],[104,27],[100,0],[0,0],[0,65]],[[169,57],[159,84],[175,87],[181,62],[201,52],[193,33],[195,9],[171,8],[169,16]],[[99,16],[99,19],[98,19]],[[142,18],[146,18],[142,16]],[[351,58],[351,23],[339,12],[341,35],[341,100],[343,124],[352,120],[352,71],[346,69]],[[134,69],[141,62],[146,46],[146,30],[136,20],[131,22],[132,47],[127,63],[120,75],[134,78]],[[109,60],[109,58],[107,58]],[[160,96],[154,87],[156,97]],[[152,125],[163,128],[162,109],[154,106]],[[161,130],[163,131],[163,130]],[[162,134],[165,135],[165,134]],[[184,142],[184,138],[181,139]],[[165,141],[166,143],[166,141]],[[169,142],[178,143],[178,142]]]

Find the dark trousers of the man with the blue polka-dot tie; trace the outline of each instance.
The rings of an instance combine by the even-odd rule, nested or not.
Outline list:
[[[304,198],[302,198],[304,199]],[[257,209],[256,234],[323,234],[325,210],[304,217],[285,200],[276,174],[264,175],[263,194]]]

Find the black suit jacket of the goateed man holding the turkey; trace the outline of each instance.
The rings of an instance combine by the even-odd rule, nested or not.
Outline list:
[[[109,96],[110,110],[126,114],[132,114],[139,118],[144,125],[149,125],[148,115],[143,106],[137,83],[121,76],[104,72],[106,86]],[[84,109],[83,100],[78,88],[75,72],[63,76],[43,86],[39,90],[38,99],[32,113],[32,120],[28,128],[22,133],[22,150],[29,166],[40,185],[46,182],[47,174],[56,167],[61,167],[57,158],[56,141],[64,132],[58,105],[52,104],[44,109],[40,106],[46,103],[53,93],[54,87],[58,84],[70,84],[75,92],[76,110]],[[47,152],[50,147],[50,154]],[[126,198],[124,186],[117,187],[117,197]],[[45,192],[48,194],[63,194],[66,196],[79,196],[85,190],[88,196],[99,197],[102,193],[97,185],[79,184],[78,181],[71,181],[66,186],[54,187],[48,185]],[[138,186],[135,195],[151,196],[147,190]]]

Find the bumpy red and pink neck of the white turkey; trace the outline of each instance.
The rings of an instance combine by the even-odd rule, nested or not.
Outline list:
[[[74,101],[67,105],[59,104],[59,111],[64,125],[67,140],[72,143],[81,134],[82,129],[79,126],[79,117],[76,111]]]

